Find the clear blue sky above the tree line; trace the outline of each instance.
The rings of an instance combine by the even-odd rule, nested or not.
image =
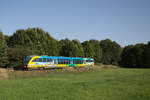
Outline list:
[[[57,40],[150,41],[150,0],[0,0],[0,30],[39,27]]]

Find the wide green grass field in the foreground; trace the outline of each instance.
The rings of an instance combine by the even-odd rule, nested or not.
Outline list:
[[[150,69],[37,74],[17,72],[0,80],[0,100],[150,100]]]

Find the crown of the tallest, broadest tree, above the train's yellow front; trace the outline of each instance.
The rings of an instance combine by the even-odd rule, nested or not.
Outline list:
[[[8,41],[11,48],[25,47],[34,55],[59,55],[58,41],[52,38],[48,32],[40,28],[28,28],[27,30],[17,30]]]

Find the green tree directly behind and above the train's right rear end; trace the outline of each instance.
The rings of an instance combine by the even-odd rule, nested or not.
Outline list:
[[[84,56],[94,58],[95,52],[93,45],[89,41],[84,41],[82,46],[84,49]]]

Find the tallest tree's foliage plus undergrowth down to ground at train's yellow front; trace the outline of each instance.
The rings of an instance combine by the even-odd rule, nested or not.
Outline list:
[[[9,67],[23,65],[29,55],[58,56],[58,41],[40,28],[17,30],[8,40]]]

